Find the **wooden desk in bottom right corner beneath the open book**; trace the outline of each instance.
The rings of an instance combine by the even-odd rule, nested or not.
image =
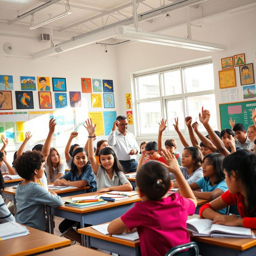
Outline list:
[[[189,216],[200,218],[198,214]],[[256,234],[256,230],[254,230]],[[256,255],[256,239],[254,238],[216,238],[199,237],[190,234],[191,241],[199,246],[199,254],[202,256],[254,256]]]

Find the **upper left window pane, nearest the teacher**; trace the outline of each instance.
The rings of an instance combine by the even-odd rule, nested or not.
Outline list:
[[[159,97],[158,74],[138,78],[139,99]]]

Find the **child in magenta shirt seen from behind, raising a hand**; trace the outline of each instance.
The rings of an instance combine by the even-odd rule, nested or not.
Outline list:
[[[110,234],[137,228],[142,256],[162,256],[170,248],[190,242],[186,220],[188,215],[194,214],[197,205],[175,156],[166,149],[161,154],[166,164],[149,161],[138,170],[136,184],[142,201],[108,226]],[[176,176],[180,195],[166,195],[172,187],[169,172]]]

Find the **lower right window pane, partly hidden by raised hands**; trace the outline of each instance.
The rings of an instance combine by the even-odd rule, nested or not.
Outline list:
[[[192,122],[198,122],[199,130],[205,131],[204,126],[199,121],[198,114],[201,112],[202,106],[204,109],[210,110],[210,125],[214,130],[217,130],[217,116],[215,94],[206,94],[200,96],[187,97],[188,102],[188,116],[192,116]]]

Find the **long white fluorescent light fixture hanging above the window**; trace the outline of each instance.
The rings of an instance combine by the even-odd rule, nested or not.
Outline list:
[[[227,50],[227,46],[224,44],[189,40],[163,34],[143,32],[142,30],[136,31],[135,28],[129,26],[117,26],[115,28],[115,31],[116,34],[118,34],[114,37],[116,39],[132,40],[150,44],[161,44],[166,46],[180,47],[206,52],[219,52]]]

